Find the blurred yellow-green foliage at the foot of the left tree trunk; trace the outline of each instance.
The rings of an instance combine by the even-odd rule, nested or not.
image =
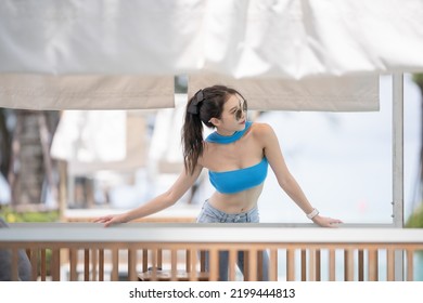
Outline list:
[[[59,221],[59,211],[26,211],[17,212],[10,207],[2,207],[0,215],[8,223],[15,222],[56,222]]]

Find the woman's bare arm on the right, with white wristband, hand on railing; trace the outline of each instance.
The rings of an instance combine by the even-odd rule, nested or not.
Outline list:
[[[261,141],[266,158],[268,159],[281,188],[316,224],[323,227],[333,227],[338,223],[342,223],[341,220],[321,216],[319,214],[317,209],[308,201],[295,177],[291,174],[273,129],[266,123],[257,124],[257,137]]]

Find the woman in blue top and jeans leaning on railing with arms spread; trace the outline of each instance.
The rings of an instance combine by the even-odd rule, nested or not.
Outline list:
[[[200,90],[187,105],[182,129],[184,170],[164,194],[131,211],[99,218],[105,226],[143,218],[176,203],[193,186],[203,168],[216,192],[204,202],[198,223],[259,222],[257,200],[268,166],[283,190],[316,224],[332,227],[339,220],[321,216],[290,173],[278,139],[268,124],[246,119],[247,103],[234,89],[214,85]],[[203,123],[216,131],[203,139]],[[267,268],[267,256],[264,258]],[[220,254],[219,277],[228,278],[228,253]],[[243,254],[238,264],[243,269]],[[264,271],[267,279],[267,271]]]

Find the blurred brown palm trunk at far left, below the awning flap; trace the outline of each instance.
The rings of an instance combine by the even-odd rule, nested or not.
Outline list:
[[[11,187],[12,208],[40,206],[43,187],[55,195],[50,143],[57,120],[57,111],[0,110],[0,169]]]

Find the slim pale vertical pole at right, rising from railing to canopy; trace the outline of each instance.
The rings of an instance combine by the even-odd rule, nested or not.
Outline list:
[[[393,75],[393,223],[403,227],[403,75]],[[395,253],[395,280],[403,280],[403,253]]]

